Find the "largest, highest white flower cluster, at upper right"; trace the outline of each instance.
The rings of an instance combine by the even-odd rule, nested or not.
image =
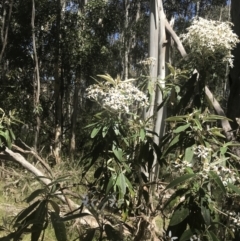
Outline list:
[[[238,36],[233,33],[230,22],[220,22],[195,18],[188,32],[180,38],[187,43],[193,51],[199,50],[204,59],[219,54],[222,62],[233,66],[231,50],[239,43]]]

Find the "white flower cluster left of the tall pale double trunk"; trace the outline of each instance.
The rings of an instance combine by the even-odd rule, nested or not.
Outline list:
[[[109,82],[94,84],[86,89],[87,98],[93,99],[111,112],[130,112],[134,104],[139,107],[149,105],[147,96],[132,83],[120,81],[115,85]]]

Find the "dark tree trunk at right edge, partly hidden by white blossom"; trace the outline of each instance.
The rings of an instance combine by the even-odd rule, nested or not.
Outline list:
[[[234,24],[233,31],[240,36],[240,1],[232,0],[231,16]],[[231,126],[237,129],[236,118],[240,117],[240,43],[233,50],[234,67],[230,70],[230,95],[227,105],[227,117],[232,119]]]

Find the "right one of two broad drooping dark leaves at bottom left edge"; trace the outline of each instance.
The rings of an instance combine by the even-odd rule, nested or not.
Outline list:
[[[67,241],[66,228],[63,221],[60,220],[59,215],[51,212],[50,216],[57,241]]]

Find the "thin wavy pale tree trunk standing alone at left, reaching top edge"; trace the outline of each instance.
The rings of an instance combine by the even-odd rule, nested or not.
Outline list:
[[[35,62],[35,69],[33,75],[33,87],[34,87],[34,109],[35,109],[35,116],[36,116],[36,126],[35,126],[35,135],[34,135],[34,143],[33,147],[35,151],[37,151],[38,146],[38,139],[39,139],[39,131],[40,131],[40,76],[39,76],[39,66],[38,66],[38,56],[37,56],[37,48],[36,48],[36,38],[35,38],[35,0],[32,0],[32,43],[33,43],[33,53],[34,53],[34,62]]]

